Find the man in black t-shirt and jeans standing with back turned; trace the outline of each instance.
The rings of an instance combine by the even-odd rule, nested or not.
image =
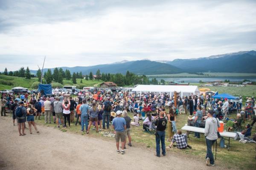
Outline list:
[[[160,141],[162,145],[162,154],[166,156],[165,151],[165,130],[166,130],[167,120],[164,118],[164,112],[160,112],[160,118],[158,118],[154,125],[157,126],[156,132],[156,143],[157,143],[157,157],[160,157]]]

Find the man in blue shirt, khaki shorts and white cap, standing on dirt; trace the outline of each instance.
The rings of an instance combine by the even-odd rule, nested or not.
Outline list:
[[[112,125],[113,125],[113,129],[116,131],[116,152],[120,153],[119,151],[119,140],[121,138],[121,142],[122,142],[122,150],[121,153],[124,154],[125,150],[125,129],[126,129],[126,121],[125,118],[121,118],[121,114],[122,112],[120,110],[118,110],[116,112],[116,118],[113,119],[112,121]]]

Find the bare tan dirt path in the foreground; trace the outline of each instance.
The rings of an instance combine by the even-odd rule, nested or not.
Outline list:
[[[62,133],[52,127],[38,126],[39,134],[19,136],[11,117],[0,117],[0,169],[2,170],[184,170],[216,169],[204,160],[179,158],[169,151],[157,158],[153,149],[128,147],[124,155],[116,153],[114,141],[87,135]],[[222,168],[223,169],[223,168]]]

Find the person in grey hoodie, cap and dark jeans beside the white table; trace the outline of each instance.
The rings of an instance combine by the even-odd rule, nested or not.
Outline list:
[[[212,145],[218,139],[218,127],[220,127],[218,118],[213,118],[214,112],[208,110],[207,120],[205,122],[204,135],[206,140],[207,152],[206,152],[206,165],[215,166],[214,157],[212,154]]]

